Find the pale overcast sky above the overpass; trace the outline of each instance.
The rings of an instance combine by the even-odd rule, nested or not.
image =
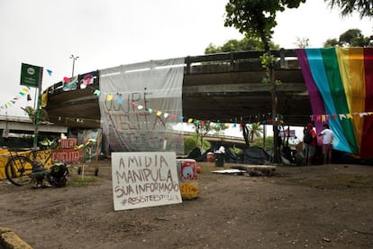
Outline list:
[[[44,68],[42,88],[75,74],[146,60],[202,55],[213,43],[242,35],[223,26],[228,0],[0,0],[0,106],[23,89],[21,64]],[[371,20],[356,14],[341,19],[323,0],[308,0],[277,15],[273,42],[295,48],[297,38],[322,47],[349,29],[373,33]],[[51,76],[46,69],[52,71]],[[32,93],[33,98],[33,93]],[[0,115],[23,115],[22,97]]]

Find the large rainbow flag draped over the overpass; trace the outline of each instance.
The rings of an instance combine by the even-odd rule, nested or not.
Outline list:
[[[317,132],[328,123],[333,147],[373,158],[373,48],[296,50]]]

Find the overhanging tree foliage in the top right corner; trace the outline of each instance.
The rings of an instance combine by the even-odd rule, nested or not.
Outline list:
[[[358,12],[360,18],[373,16],[373,1],[371,0],[324,0],[330,8],[340,8],[341,16],[348,16],[353,12]]]

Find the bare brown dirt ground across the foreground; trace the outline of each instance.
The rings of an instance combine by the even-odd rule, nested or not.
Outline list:
[[[198,198],[114,212],[110,161],[98,163],[87,185],[0,181],[0,226],[41,249],[373,247],[372,166],[279,166],[271,177],[250,177],[198,163]]]

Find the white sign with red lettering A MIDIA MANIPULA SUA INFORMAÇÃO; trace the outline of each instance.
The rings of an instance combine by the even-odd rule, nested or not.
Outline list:
[[[114,210],[181,203],[175,152],[113,152]]]

